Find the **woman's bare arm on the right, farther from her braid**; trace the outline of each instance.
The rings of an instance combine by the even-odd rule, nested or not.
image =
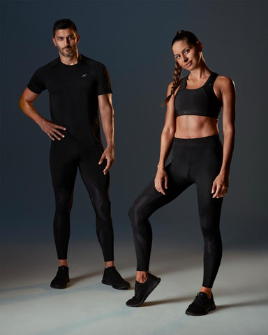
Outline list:
[[[219,78],[219,89],[223,101],[223,163],[221,171],[213,182],[212,198],[221,198],[229,186],[229,172],[234,151],[234,120],[235,120],[235,88],[234,82],[228,77]]]

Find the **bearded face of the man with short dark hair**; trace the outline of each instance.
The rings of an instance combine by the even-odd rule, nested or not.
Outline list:
[[[64,57],[72,57],[77,52],[80,36],[72,28],[55,31],[53,43]]]

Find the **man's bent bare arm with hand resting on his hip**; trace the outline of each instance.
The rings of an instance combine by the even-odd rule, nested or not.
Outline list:
[[[54,141],[54,137],[57,138],[57,140],[61,140],[61,137],[64,137],[64,134],[62,134],[59,129],[65,131],[66,128],[58,126],[57,124],[54,124],[50,120],[44,119],[40,114],[38,114],[36,108],[33,105],[38,96],[39,94],[34,93],[28,89],[28,87],[26,87],[20,98],[20,109],[22,112],[24,112],[24,114],[27,115],[27,117],[36,122],[36,124],[40,126],[42,131],[44,131],[52,141]]]

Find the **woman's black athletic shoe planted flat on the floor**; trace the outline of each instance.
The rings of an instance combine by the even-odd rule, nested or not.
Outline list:
[[[200,316],[206,315],[210,311],[216,309],[213,295],[211,293],[211,298],[209,299],[204,292],[199,292],[198,295],[193,300],[192,304],[186,309],[187,315]]]

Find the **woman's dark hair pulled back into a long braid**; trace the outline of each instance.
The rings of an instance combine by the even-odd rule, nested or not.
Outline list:
[[[171,46],[173,46],[174,43],[177,42],[178,40],[187,40],[187,42],[192,45],[198,44],[198,38],[195,36],[195,34],[191,33],[191,31],[184,31],[184,30],[177,31],[176,36],[172,40]],[[181,71],[182,67],[179,66],[179,63],[177,61],[175,61],[173,83],[170,89],[170,95],[167,96],[167,98],[165,98],[163,106],[167,105],[167,103],[170,101],[170,98],[172,97],[172,94],[174,94],[174,91],[176,91],[176,89],[179,87],[179,84],[181,84]]]

